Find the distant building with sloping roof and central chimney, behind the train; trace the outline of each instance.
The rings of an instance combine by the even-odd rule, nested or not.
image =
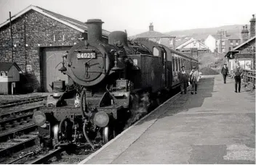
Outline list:
[[[135,38],[148,38],[151,41],[163,44],[164,46],[167,46],[169,48],[175,48],[175,37],[168,36],[153,30],[153,23],[149,25],[148,31],[137,34],[137,35],[132,35],[129,37],[129,39],[135,39]]]

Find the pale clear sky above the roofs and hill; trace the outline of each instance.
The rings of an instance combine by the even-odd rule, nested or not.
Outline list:
[[[103,29],[127,30],[128,35],[172,30],[249,24],[255,0],[0,0],[0,24],[29,5],[81,22],[101,19]]]

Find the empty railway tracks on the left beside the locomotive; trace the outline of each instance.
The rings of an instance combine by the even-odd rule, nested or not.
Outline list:
[[[38,131],[32,117],[34,111],[44,106],[46,98],[36,96],[0,103],[0,162],[37,143]]]

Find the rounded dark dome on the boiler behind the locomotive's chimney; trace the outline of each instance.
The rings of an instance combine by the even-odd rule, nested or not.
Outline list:
[[[121,44],[128,46],[127,33],[122,31],[113,31],[108,36],[108,43],[111,45]]]

